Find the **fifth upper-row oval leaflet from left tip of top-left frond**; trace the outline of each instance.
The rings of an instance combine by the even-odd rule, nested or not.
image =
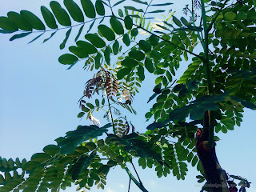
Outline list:
[[[61,24],[62,26],[71,26],[70,16],[66,13],[66,10],[64,10],[58,2],[50,2],[50,8],[51,10],[53,10],[59,24]]]

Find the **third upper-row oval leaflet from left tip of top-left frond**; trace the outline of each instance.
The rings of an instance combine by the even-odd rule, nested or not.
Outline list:
[[[46,26],[42,23],[42,21],[30,11],[21,10],[22,18],[25,18],[28,23],[33,27],[35,30],[46,30]]]

